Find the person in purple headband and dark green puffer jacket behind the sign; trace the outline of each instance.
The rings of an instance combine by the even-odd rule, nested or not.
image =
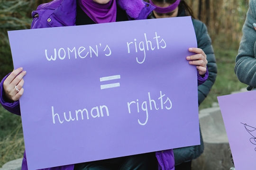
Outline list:
[[[207,27],[195,19],[192,9],[184,0],[149,0],[149,3],[155,6],[155,9],[148,18],[192,17],[198,46],[193,52],[198,55],[207,55],[208,60],[209,77],[204,84],[198,86],[198,104],[200,105],[210,92],[217,76],[216,59]],[[200,138],[201,145],[174,149],[175,170],[191,170],[192,160],[199,157],[204,149],[201,133]]]

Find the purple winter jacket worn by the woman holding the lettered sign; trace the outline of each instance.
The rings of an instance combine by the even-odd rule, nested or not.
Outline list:
[[[129,20],[146,19],[155,8],[143,0],[117,0],[120,8],[126,10]],[[49,3],[41,4],[36,11],[32,12],[33,22],[31,29],[57,26],[74,26],[76,20],[76,0],[53,0]],[[9,76],[9,75],[7,75]],[[0,103],[10,112],[20,115],[19,101],[9,103],[4,100],[3,82],[0,83]],[[198,74],[198,85],[201,85],[208,78],[208,70],[204,77]],[[158,161],[158,170],[174,170],[173,150],[155,152]],[[44,170],[73,170],[74,165],[65,165]],[[26,152],[22,161],[21,170],[27,170]]]

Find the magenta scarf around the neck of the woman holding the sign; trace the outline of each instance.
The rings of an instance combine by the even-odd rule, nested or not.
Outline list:
[[[117,16],[116,0],[99,4],[93,0],[78,0],[79,6],[95,23],[115,22]]]

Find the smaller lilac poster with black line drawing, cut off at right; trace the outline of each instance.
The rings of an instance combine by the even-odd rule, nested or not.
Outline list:
[[[256,167],[256,91],[218,97],[236,170]]]

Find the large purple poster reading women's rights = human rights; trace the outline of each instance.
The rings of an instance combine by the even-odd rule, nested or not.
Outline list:
[[[200,144],[191,17],[9,32],[29,169]]]

